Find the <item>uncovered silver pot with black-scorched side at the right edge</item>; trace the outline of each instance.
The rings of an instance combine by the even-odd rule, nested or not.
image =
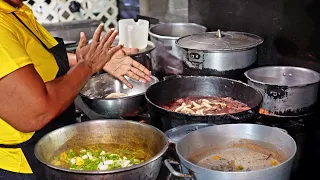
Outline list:
[[[263,95],[261,108],[270,116],[303,116],[318,102],[319,73],[292,66],[258,67],[245,72],[248,84]]]

